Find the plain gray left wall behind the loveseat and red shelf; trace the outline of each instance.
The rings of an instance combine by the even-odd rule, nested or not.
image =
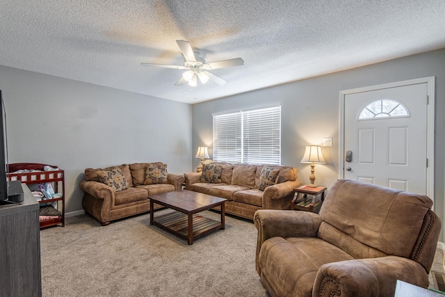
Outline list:
[[[65,170],[66,211],[85,168],[162,161],[191,170],[191,105],[0,66],[10,163]]]

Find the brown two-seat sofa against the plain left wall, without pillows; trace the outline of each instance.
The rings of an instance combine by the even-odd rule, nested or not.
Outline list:
[[[144,184],[147,164],[164,165],[161,162],[156,162],[123,164],[108,168],[87,168],[85,179],[80,183],[81,189],[85,191],[82,200],[83,209],[102,222],[102,225],[108,225],[112,220],[149,211],[149,195],[181,190],[184,175],[172,173],[168,173],[166,184]],[[110,186],[99,182],[97,171],[115,168],[120,168],[127,181],[127,188],[123,191],[113,191]],[[156,205],[155,208],[159,207]]]

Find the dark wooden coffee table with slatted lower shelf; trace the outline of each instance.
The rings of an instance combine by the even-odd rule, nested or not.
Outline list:
[[[225,228],[226,199],[188,190],[150,195],[150,225],[159,226],[193,244],[193,239]],[[175,211],[154,218],[154,203]],[[213,207],[221,207],[221,221],[204,218],[198,213]],[[156,219],[156,220],[155,220]]]

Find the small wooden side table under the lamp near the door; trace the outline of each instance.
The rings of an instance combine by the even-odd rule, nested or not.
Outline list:
[[[293,209],[300,211],[312,211],[318,214],[320,211],[321,204],[325,200],[324,186],[310,187],[310,186],[300,186],[296,188],[295,195],[293,196]],[[321,195],[320,200],[318,200],[318,195]]]

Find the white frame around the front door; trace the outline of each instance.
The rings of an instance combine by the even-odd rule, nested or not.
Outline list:
[[[382,90],[386,88],[396,88],[401,86],[410,86],[419,83],[427,84],[427,124],[426,124],[426,157],[428,159],[428,167],[426,168],[426,195],[434,199],[434,125],[435,125],[435,77],[423,77],[420,79],[410,79],[407,81],[396,81],[394,83],[384,83],[376,86],[367,86],[362,88],[354,88],[350,90],[340,91],[340,151],[339,151],[339,178],[344,177],[345,161],[343,154],[345,152],[344,147],[344,129],[345,129],[345,97],[346,95],[369,92],[372,90]],[[425,98],[427,99],[427,98]],[[434,209],[434,204],[433,204]]]

